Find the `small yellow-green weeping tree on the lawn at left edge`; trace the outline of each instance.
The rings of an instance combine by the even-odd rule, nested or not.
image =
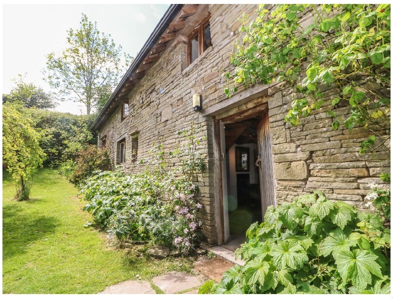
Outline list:
[[[40,135],[32,128],[21,106],[3,104],[3,167],[16,182],[18,200],[28,199],[33,174],[42,166],[45,153],[39,146]]]

